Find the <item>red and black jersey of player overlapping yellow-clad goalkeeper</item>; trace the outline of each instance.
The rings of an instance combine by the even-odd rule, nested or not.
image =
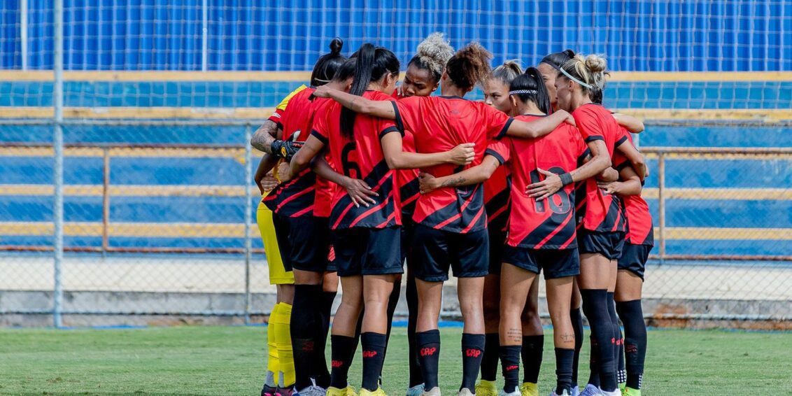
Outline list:
[[[314,114],[314,102],[310,101],[316,89],[313,87],[295,93],[280,116],[284,140],[304,142],[308,139],[310,120]],[[299,217],[314,214],[316,173],[303,169],[296,177],[278,185],[264,199],[264,204],[278,215]]]

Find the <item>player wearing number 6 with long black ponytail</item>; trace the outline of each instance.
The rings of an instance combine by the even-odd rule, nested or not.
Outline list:
[[[392,101],[390,95],[399,68],[396,56],[371,44],[364,44],[353,56],[356,72],[350,94],[373,101]],[[333,321],[333,336],[353,337],[360,310],[365,309],[361,395],[384,394],[379,388],[379,375],[386,347],[387,303],[395,274],[402,272],[401,210],[398,185],[391,169],[460,166],[474,156],[472,144],[460,144],[437,154],[404,152],[401,134],[392,132],[399,132],[392,121],[356,116],[355,112],[333,105],[323,117],[314,119],[310,138],[291,162],[291,174],[299,174],[310,158],[328,146],[337,169],[347,177],[363,179],[377,194],[375,204],[364,203],[361,207],[346,192],[338,190],[333,196],[330,215],[333,248],[344,287],[341,307]],[[333,355],[336,352],[333,343]]]

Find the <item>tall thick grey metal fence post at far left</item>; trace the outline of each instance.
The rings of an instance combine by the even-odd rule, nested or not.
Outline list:
[[[52,322],[63,326],[63,0],[55,0],[55,87],[53,102],[55,122],[53,147],[55,148],[55,204],[52,208],[55,226],[55,290],[53,291]]]

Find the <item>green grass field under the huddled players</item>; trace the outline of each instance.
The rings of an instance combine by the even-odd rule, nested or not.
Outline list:
[[[461,329],[441,333],[440,386],[453,394]],[[0,394],[258,394],[265,336],[265,327],[0,329]],[[390,342],[384,387],[404,394],[405,329],[394,329]],[[649,395],[792,394],[792,333],[652,330],[646,367]],[[581,381],[587,377],[581,364]],[[543,394],[554,386],[550,343],[539,381]]]

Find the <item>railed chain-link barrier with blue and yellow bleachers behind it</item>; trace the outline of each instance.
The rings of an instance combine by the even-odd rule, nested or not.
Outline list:
[[[2,323],[49,322],[54,312],[73,325],[256,322],[267,314],[274,290],[261,265],[251,184],[260,153],[247,144],[256,121],[63,121],[61,271],[51,238],[55,150],[47,136],[36,138],[51,122],[2,124],[18,134],[0,147]],[[162,128],[237,138],[141,143]],[[790,327],[792,148],[642,151],[657,242],[647,318],[658,326]],[[454,300],[447,317],[458,315]]]

